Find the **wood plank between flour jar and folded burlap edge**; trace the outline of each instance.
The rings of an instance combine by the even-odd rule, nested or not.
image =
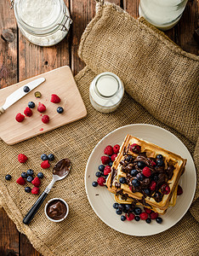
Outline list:
[[[110,0],[110,3],[120,5],[120,0]],[[94,0],[71,0],[71,17],[73,25],[71,29],[71,70],[76,75],[85,64],[78,57],[78,47],[82,32],[85,30],[88,22],[94,18],[95,2]]]

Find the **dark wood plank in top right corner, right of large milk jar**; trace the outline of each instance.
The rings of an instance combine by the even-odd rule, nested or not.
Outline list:
[[[176,44],[179,44],[185,51],[196,55],[199,55],[198,44],[194,38],[194,32],[199,26],[198,8],[199,2],[197,0],[190,0],[179,23],[175,26]]]

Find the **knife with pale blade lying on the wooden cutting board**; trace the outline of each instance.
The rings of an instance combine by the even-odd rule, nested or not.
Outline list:
[[[10,94],[2,107],[0,107],[0,114],[3,113],[7,108],[12,106],[15,102],[19,101],[23,96],[26,96],[31,90],[35,89],[39,84],[42,84],[46,79],[40,78],[31,81],[28,84],[21,86],[19,89],[15,90]],[[26,86],[26,88],[25,88]],[[25,91],[26,90],[26,91]]]

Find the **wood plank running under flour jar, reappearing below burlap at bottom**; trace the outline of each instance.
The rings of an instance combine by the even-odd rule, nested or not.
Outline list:
[[[69,0],[64,0],[69,8]],[[19,80],[31,78],[37,74],[48,72],[56,67],[71,64],[70,43],[71,29],[68,35],[52,47],[39,47],[29,43],[19,32]],[[20,255],[39,255],[31,246],[27,245],[26,236],[20,235]]]

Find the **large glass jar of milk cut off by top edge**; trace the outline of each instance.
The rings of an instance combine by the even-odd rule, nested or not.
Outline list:
[[[139,16],[165,31],[181,18],[188,0],[140,0]]]

